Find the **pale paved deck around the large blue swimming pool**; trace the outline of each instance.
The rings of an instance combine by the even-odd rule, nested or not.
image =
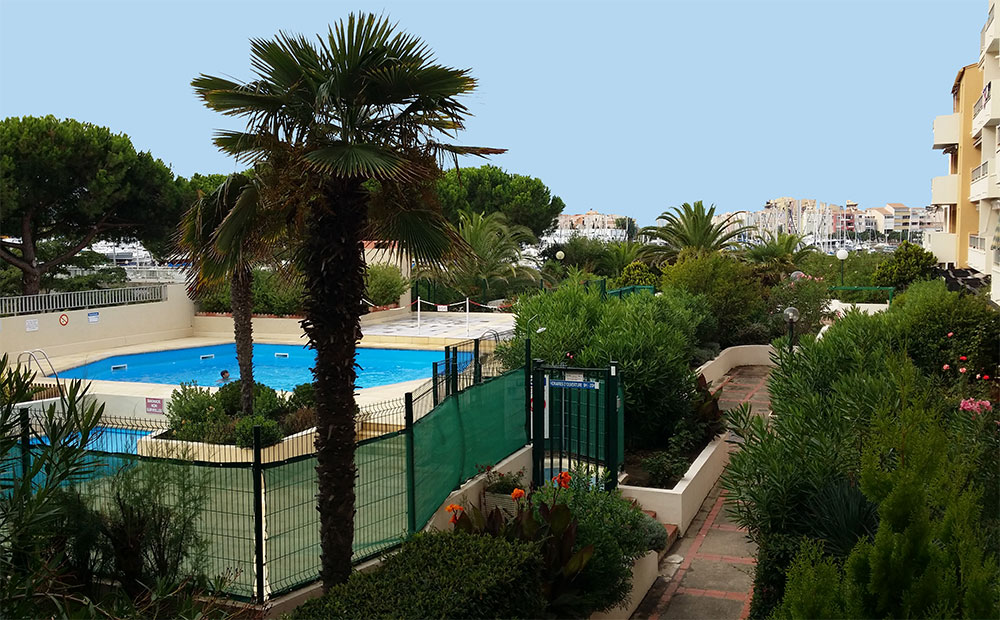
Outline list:
[[[423,313],[420,325],[417,324],[417,317],[409,317],[376,325],[368,326],[364,329],[361,344],[362,348],[381,349],[414,349],[414,350],[442,350],[446,345],[454,344],[461,340],[466,340],[468,331],[473,336],[482,335],[488,330],[504,331],[511,329],[514,325],[514,316],[511,314],[472,314],[469,316],[468,328],[464,314],[459,313]],[[220,344],[229,344],[233,338],[223,338],[216,334],[211,336],[192,336],[189,338],[176,338],[161,342],[149,342],[144,344],[128,345],[111,349],[100,349],[88,351],[86,353],[76,353],[72,355],[61,355],[51,358],[52,365],[56,372],[75,368],[91,362],[96,362],[116,355],[133,355],[136,353],[152,353],[155,351],[170,351],[175,349],[189,349],[195,347],[209,347]],[[281,336],[271,334],[260,334],[254,338],[259,344],[285,344],[305,346],[304,336]],[[428,373],[429,373],[428,369]],[[371,388],[362,388],[357,391],[357,403],[364,407],[368,404],[402,398],[406,392],[416,389],[427,379],[415,379],[401,383],[392,383]],[[41,382],[45,382],[44,380]],[[164,383],[137,383],[125,381],[90,381],[90,393],[101,396],[120,396],[125,398],[169,398],[171,392],[177,388],[176,385]],[[212,387],[212,386],[208,386]],[[111,412],[114,413],[114,412]]]

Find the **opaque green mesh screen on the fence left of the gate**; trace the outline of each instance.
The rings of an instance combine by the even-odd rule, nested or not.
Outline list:
[[[438,405],[413,425],[417,526],[448,494],[524,447],[524,370],[474,385]]]

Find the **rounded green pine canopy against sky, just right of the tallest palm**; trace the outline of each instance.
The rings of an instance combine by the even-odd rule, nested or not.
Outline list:
[[[503,213],[511,226],[524,226],[536,237],[555,227],[565,203],[540,179],[510,174],[496,166],[449,170],[438,181],[445,217],[456,226],[459,213]]]

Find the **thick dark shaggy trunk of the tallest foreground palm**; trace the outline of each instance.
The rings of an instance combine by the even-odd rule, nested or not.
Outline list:
[[[354,542],[354,352],[361,338],[367,196],[347,180],[314,206],[302,248],[306,318],[316,350],[316,473],[323,590],[347,581]]]

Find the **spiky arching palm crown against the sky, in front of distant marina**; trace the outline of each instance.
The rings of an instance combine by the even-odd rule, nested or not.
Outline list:
[[[715,224],[715,206],[707,210],[699,200],[684,203],[666,211],[659,218],[663,226],[647,226],[641,234],[655,240],[644,248],[653,262],[673,261],[681,252],[707,254],[728,250],[739,245],[739,237],[753,230],[752,226],[737,225],[736,214],[730,214]],[[658,241],[659,243],[656,243]]]

